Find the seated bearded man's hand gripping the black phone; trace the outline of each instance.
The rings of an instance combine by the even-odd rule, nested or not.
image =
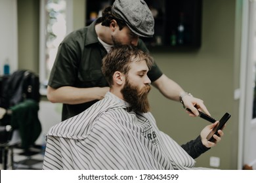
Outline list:
[[[207,135],[211,132],[213,127],[215,127],[215,125],[217,125],[217,124],[219,124],[219,121],[215,122],[214,124],[205,126],[200,133],[202,144],[204,146],[206,146],[207,148],[211,148],[211,147],[215,146],[217,144],[217,142],[221,141],[221,137],[223,137],[223,135],[224,135],[223,131],[221,129],[219,129],[219,131],[218,131],[219,136],[213,135],[215,142],[211,142],[206,139]],[[224,127],[225,127],[225,125],[224,125]]]

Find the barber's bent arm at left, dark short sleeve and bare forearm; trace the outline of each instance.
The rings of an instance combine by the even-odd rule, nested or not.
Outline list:
[[[47,98],[52,103],[66,103],[70,105],[100,100],[104,97],[109,87],[76,88],[72,86],[77,82],[81,49],[79,44],[62,42],[58,47],[56,60],[49,78]]]

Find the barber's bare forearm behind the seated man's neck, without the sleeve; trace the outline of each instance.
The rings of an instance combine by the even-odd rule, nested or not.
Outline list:
[[[72,86],[62,86],[54,89],[51,86],[48,86],[47,98],[52,103],[66,103],[74,105],[103,99],[104,95],[106,92],[109,92],[109,90],[109,87],[75,88]]]

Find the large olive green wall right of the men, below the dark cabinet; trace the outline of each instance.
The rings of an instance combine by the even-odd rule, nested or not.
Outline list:
[[[210,156],[221,158],[219,169],[237,166],[238,118],[233,117],[235,10],[236,1],[203,0],[201,48],[195,52],[152,53],[163,73],[203,99],[213,117],[232,114],[222,141],[196,159],[200,167],[209,167]],[[179,144],[197,137],[207,125],[205,120],[188,116],[180,103],[165,99],[157,90],[150,93],[150,101],[158,127]]]

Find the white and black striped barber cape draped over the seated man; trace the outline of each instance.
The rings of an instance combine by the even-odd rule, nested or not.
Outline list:
[[[84,112],[51,127],[43,169],[192,169],[195,161],[161,132],[150,112],[108,92]]]

